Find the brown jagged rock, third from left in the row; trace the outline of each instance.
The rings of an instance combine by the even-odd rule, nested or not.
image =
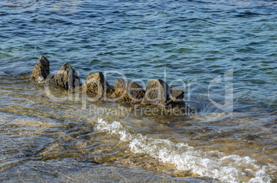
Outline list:
[[[102,72],[88,74],[82,88],[84,92],[99,96],[110,96],[114,92]]]

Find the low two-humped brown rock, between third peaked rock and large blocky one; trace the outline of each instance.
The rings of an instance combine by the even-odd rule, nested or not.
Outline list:
[[[127,82],[121,78],[114,83],[114,95],[120,97],[123,101],[132,103],[141,103],[145,96],[145,90],[134,82]]]

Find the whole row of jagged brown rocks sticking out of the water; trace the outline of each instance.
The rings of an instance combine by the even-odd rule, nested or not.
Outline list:
[[[34,79],[41,77],[45,79],[49,74],[50,62],[47,58],[41,56],[34,66],[31,76]],[[49,83],[69,89],[70,92],[73,88],[81,86],[78,74],[69,63],[62,65],[57,74],[50,78]],[[182,112],[187,114],[187,110],[189,110],[184,102],[183,90],[171,88],[161,79],[150,80],[144,90],[137,83],[127,82],[119,78],[114,84],[114,89],[112,89],[102,72],[90,73],[79,89],[82,89],[82,92],[95,94],[99,98],[117,98],[125,102],[158,107],[172,113]]]

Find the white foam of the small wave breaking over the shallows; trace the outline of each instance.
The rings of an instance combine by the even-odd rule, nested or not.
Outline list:
[[[140,133],[131,134],[120,122],[108,124],[99,118],[96,129],[116,134],[120,140],[130,142],[130,151],[145,153],[161,162],[175,164],[176,169],[192,171],[194,174],[212,177],[223,182],[271,182],[267,169],[276,171],[276,166],[260,166],[256,160],[239,155],[225,155],[219,151],[202,151],[189,147],[187,143],[174,143],[170,140],[147,138]]]

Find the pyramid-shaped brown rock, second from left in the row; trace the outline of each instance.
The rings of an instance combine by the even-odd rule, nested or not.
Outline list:
[[[50,79],[50,83],[72,90],[79,86],[80,78],[69,63],[61,66],[61,69]]]

